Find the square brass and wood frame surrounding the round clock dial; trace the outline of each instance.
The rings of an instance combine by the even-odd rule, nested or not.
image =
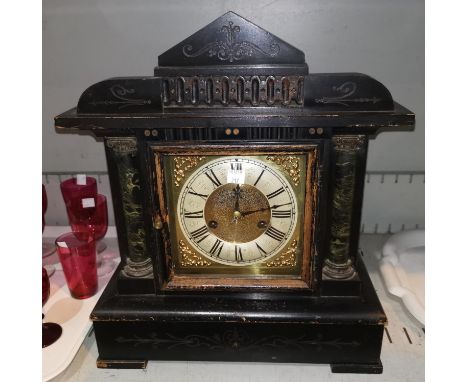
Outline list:
[[[313,277],[311,269],[314,262],[314,241],[315,241],[315,221],[317,216],[317,197],[318,197],[318,145],[225,145],[225,144],[201,144],[201,145],[171,145],[152,147],[154,153],[156,181],[156,197],[159,199],[160,210],[155,211],[155,217],[161,220],[163,224],[163,237],[165,238],[165,264],[168,278],[164,289],[173,288],[216,288],[216,287],[252,287],[252,288],[313,288]],[[298,185],[293,187],[303,189],[304,193],[296,193],[298,198],[298,208],[303,206],[302,219],[298,220],[295,231],[291,239],[284,247],[283,251],[275,255],[269,261],[258,265],[249,265],[245,267],[230,267],[226,265],[215,264],[212,266],[210,258],[198,253],[190,243],[182,242],[181,229],[177,219],[171,219],[176,216],[175,208],[178,199],[178,193],[174,192],[174,168],[168,162],[171,157],[193,157],[194,165],[188,165],[185,178],[205,162],[211,161],[216,157],[241,155],[249,157],[265,157],[267,155],[280,157],[291,155],[304,156],[305,163],[301,164],[304,169],[304,176],[300,179]],[[200,159],[201,157],[205,157]],[[208,158],[207,158],[208,157]],[[172,161],[173,163],[173,161]],[[285,169],[280,165],[271,163],[284,175]],[[166,166],[166,168],[165,168]],[[169,171],[172,176],[166,177]],[[295,174],[293,174],[295,175]],[[289,178],[290,179],[290,178]],[[181,185],[185,180],[178,182],[179,192]],[[296,179],[297,182],[297,179]],[[176,182],[177,183],[177,182]],[[293,182],[291,182],[293,184]],[[303,200],[302,200],[303,199]],[[299,210],[298,210],[299,213]],[[301,229],[303,228],[302,232]],[[180,245],[180,247],[179,247]],[[292,247],[302,249],[302,258],[295,266],[279,266],[281,261],[288,264],[287,258],[284,259],[284,253],[291,252]],[[184,256],[189,256],[189,266],[183,267],[181,272],[181,249]],[[280,258],[283,256],[282,258]],[[270,262],[271,260],[271,262]],[[270,262],[270,267],[266,263]],[[200,271],[202,269],[202,271]],[[248,272],[246,270],[248,269]],[[253,271],[255,269],[255,271]],[[216,276],[215,276],[216,275]]]

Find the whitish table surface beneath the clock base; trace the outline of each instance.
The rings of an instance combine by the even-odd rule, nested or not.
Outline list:
[[[388,235],[361,237],[364,262],[389,321],[387,332],[391,342],[384,333],[381,375],[332,374],[329,365],[239,362],[149,361],[145,370],[98,369],[96,340],[91,332],[70,366],[51,381],[424,381],[425,333],[400,301],[387,293],[378,273],[378,253],[387,238]]]

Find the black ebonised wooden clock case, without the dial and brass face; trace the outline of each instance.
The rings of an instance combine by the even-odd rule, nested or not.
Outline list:
[[[369,76],[309,74],[301,51],[232,12],[158,64],[151,77],[92,85],[56,117],[59,132],[91,132],[106,150],[122,262],[91,314],[98,367],[166,359],[382,372],[386,317],[358,253],[367,144],[382,129],[411,128],[413,113]],[[158,148],[289,153],[301,145],[317,153],[308,178],[317,203],[302,227],[314,232],[306,287],[168,287],[174,243],[172,217],[161,212]]]

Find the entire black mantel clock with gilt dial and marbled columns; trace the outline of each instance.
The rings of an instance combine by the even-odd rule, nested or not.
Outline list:
[[[359,73],[228,12],[150,77],[90,86],[56,128],[106,150],[121,265],[99,367],[329,363],[379,373],[386,317],[358,253],[367,143],[414,115]]]

